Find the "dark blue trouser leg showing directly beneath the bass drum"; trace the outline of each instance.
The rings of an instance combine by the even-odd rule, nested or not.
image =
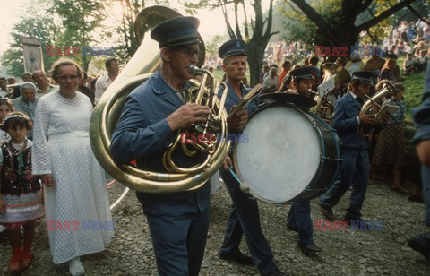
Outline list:
[[[311,203],[308,199],[297,200],[291,204],[287,217],[288,229],[298,233],[298,243],[313,245],[314,229],[311,220]]]

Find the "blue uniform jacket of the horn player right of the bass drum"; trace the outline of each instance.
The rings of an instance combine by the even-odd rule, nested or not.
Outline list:
[[[357,132],[357,118],[362,105],[348,92],[334,104],[332,126],[337,130],[343,153],[362,156],[367,152],[368,140]]]

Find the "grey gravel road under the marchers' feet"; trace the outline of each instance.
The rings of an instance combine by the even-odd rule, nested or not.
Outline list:
[[[363,208],[364,219],[382,220],[383,230],[318,230],[316,243],[323,253],[307,256],[297,247],[297,233],[286,227],[289,205],[259,203],[262,229],[276,263],[291,275],[427,275],[426,259],[407,246],[406,239],[424,231],[424,204],[408,201],[389,185],[371,181]],[[109,190],[111,202],[124,191],[123,185]],[[334,209],[343,219],[348,195]],[[241,266],[219,259],[231,200],[224,185],[211,200],[211,226],[201,275],[258,275],[253,266]],[[312,201],[314,220],[323,220],[317,201]],[[157,275],[146,218],[133,192],[113,211],[115,239],[105,252],[82,257],[86,275]],[[22,275],[69,275],[67,264],[54,265],[49,252],[45,220],[40,220],[35,238],[35,260]],[[242,251],[247,252],[245,240]],[[10,247],[0,241],[0,273],[8,274]]]

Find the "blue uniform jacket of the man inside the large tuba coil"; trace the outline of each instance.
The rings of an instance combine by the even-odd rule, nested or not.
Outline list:
[[[166,118],[182,105],[181,99],[159,72],[130,93],[112,135],[110,151],[116,163],[128,164],[136,160],[138,168],[167,172],[161,158],[177,132],[170,129]],[[202,155],[186,158],[181,149],[173,154],[176,163],[183,167],[191,167],[202,158]],[[137,194],[145,213],[151,214],[203,211],[210,203],[209,182],[194,191]]]

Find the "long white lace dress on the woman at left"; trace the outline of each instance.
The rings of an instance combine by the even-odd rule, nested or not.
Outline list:
[[[114,235],[104,170],[90,147],[91,112],[87,96],[64,98],[58,91],[41,98],[36,108],[33,175],[52,174],[56,181],[44,188],[54,263],[103,251]]]

